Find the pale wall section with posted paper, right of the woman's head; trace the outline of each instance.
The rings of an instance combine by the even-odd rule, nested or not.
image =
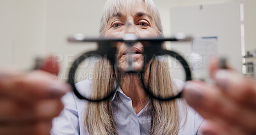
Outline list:
[[[208,77],[208,63],[212,54],[219,54],[227,58],[228,64],[237,72],[242,73],[240,5],[240,1],[231,1],[221,4],[172,8],[172,33],[182,31],[195,38],[205,36],[218,38],[216,45],[208,43],[204,44],[204,47],[200,47],[200,51],[196,49],[196,53],[202,58],[194,57],[197,62],[191,63],[191,67],[194,69],[194,78]],[[194,44],[194,46],[198,46],[198,44]],[[180,52],[187,59],[193,59],[191,43],[173,43],[172,49]],[[173,75],[179,76],[179,72],[174,71]]]

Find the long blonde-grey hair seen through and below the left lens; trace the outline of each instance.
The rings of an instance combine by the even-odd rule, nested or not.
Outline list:
[[[106,59],[95,63],[90,98],[99,99],[113,90],[115,76]],[[113,120],[111,98],[105,102],[88,102],[85,109],[84,125],[91,134],[117,134]]]

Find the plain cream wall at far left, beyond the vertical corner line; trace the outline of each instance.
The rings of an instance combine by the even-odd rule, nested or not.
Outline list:
[[[28,68],[44,53],[44,1],[0,1],[0,65]]]

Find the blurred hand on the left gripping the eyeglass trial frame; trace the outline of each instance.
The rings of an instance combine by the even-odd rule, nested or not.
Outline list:
[[[43,69],[0,68],[0,134],[50,134],[52,118],[63,109],[60,99],[71,87],[56,79],[54,58]]]

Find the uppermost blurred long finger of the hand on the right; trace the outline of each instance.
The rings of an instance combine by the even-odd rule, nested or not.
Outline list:
[[[242,103],[248,107],[256,106],[256,81],[230,70],[216,71],[213,79],[237,104]]]

